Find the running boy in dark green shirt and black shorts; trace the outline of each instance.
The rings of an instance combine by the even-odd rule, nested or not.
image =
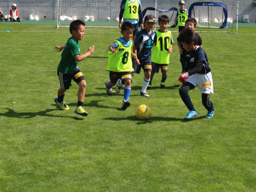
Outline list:
[[[78,62],[87,58],[92,52],[94,52],[94,46],[90,47],[85,54],[80,55],[80,49],[78,41],[84,38],[85,23],[81,20],[74,20],[70,23],[70,33],[72,36],[68,39],[64,46],[56,46],[54,49],[58,52],[62,51],[60,64],[57,68],[57,73],[60,80],[60,88],[58,89],[58,97],[54,99],[54,102],[61,110],[69,110],[68,105],[64,102],[64,96],[66,90],[71,85],[71,80],[74,80],[79,86],[78,89],[78,103],[75,110],[76,114],[87,116],[88,113],[84,110],[84,95],[86,89],[86,81],[80,68],[78,68]]]

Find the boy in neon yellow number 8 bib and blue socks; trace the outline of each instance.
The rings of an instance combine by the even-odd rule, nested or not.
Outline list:
[[[132,73],[132,57],[136,57],[132,53],[132,34],[134,32],[134,26],[130,22],[124,22],[121,26],[121,34],[123,37],[118,38],[112,45],[109,46],[108,54],[108,66],[106,68],[109,71],[110,80],[105,83],[106,92],[108,95],[112,95],[112,87],[116,85],[116,92],[120,93],[122,84],[124,87],[124,100],[122,109],[126,110],[130,106],[129,97],[131,94]]]

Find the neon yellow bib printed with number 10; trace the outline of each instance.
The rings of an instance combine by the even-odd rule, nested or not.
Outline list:
[[[170,53],[168,49],[170,48],[172,40],[172,32],[160,32],[156,31],[157,42],[152,47],[152,57],[151,61],[156,64],[169,64]]]

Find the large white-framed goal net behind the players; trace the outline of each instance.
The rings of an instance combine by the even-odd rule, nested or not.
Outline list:
[[[179,8],[177,0],[140,0],[143,16],[160,14],[174,19]],[[238,0],[219,0],[220,3],[205,0],[185,0],[189,16],[198,20],[198,32],[232,32],[238,29]],[[223,4],[213,6],[212,4]],[[117,27],[119,24],[121,0],[56,0],[56,28],[69,27],[72,20],[80,19],[88,27]],[[222,26],[224,25],[224,27]],[[158,26],[158,25],[156,25]],[[178,31],[178,27],[170,28]]]

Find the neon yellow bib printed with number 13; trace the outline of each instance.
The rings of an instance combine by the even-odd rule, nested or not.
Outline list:
[[[140,4],[138,0],[135,0],[134,2],[126,0],[126,4],[124,6],[124,19],[138,19],[139,6]]]

